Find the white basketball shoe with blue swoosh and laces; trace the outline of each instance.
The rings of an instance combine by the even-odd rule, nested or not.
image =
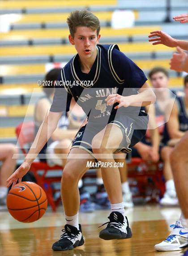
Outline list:
[[[176,220],[175,225],[170,225],[174,228],[171,234],[161,243],[154,246],[157,251],[179,251],[188,247],[188,229],[181,225],[180,220]]]

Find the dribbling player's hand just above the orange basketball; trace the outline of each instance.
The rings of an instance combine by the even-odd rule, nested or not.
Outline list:
[[[20,167],[9,177],[7,182],[7,187],[9,187],[12,183],[13,186],[18,182],[21,182],[21,178],[26,175],[26,173],[30,170],[30,164],[28,162],[23,162]]]

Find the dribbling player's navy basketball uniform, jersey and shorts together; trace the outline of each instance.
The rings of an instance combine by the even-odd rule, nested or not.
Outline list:
[[[94,135],[107,124],[120,127],[123,133],[122,143],[114,152],[131,151],[129,147],[145,135],[148,116],[144,108],[129,106],[114,109],[118,103],[107,106],[104,100],[110,94],[137,94],[147,81],[143,71],[117,45],[97,45],[97,57],[88,74],[81,71],[76,54],[63,67],[59,80],[64,86],[56,86],[50,111],[68,111],[73,97],[88,116],[88,123],[78,131],[72,148],[83,148],[92,153]]]

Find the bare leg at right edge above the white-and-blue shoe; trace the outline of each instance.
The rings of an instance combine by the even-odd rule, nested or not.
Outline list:
[[[188,132],[175,146],[170,159],[179,204],[188,219]]]

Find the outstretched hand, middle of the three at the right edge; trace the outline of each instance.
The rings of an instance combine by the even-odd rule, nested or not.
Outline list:
[[[156,30],[150,32],[149,38],[157,36],[155,38],[149,39],[149,42],[154,42],[152,45],[166,45],[168,47],[175,47],[175,39],[169,36],[167,33]]]

